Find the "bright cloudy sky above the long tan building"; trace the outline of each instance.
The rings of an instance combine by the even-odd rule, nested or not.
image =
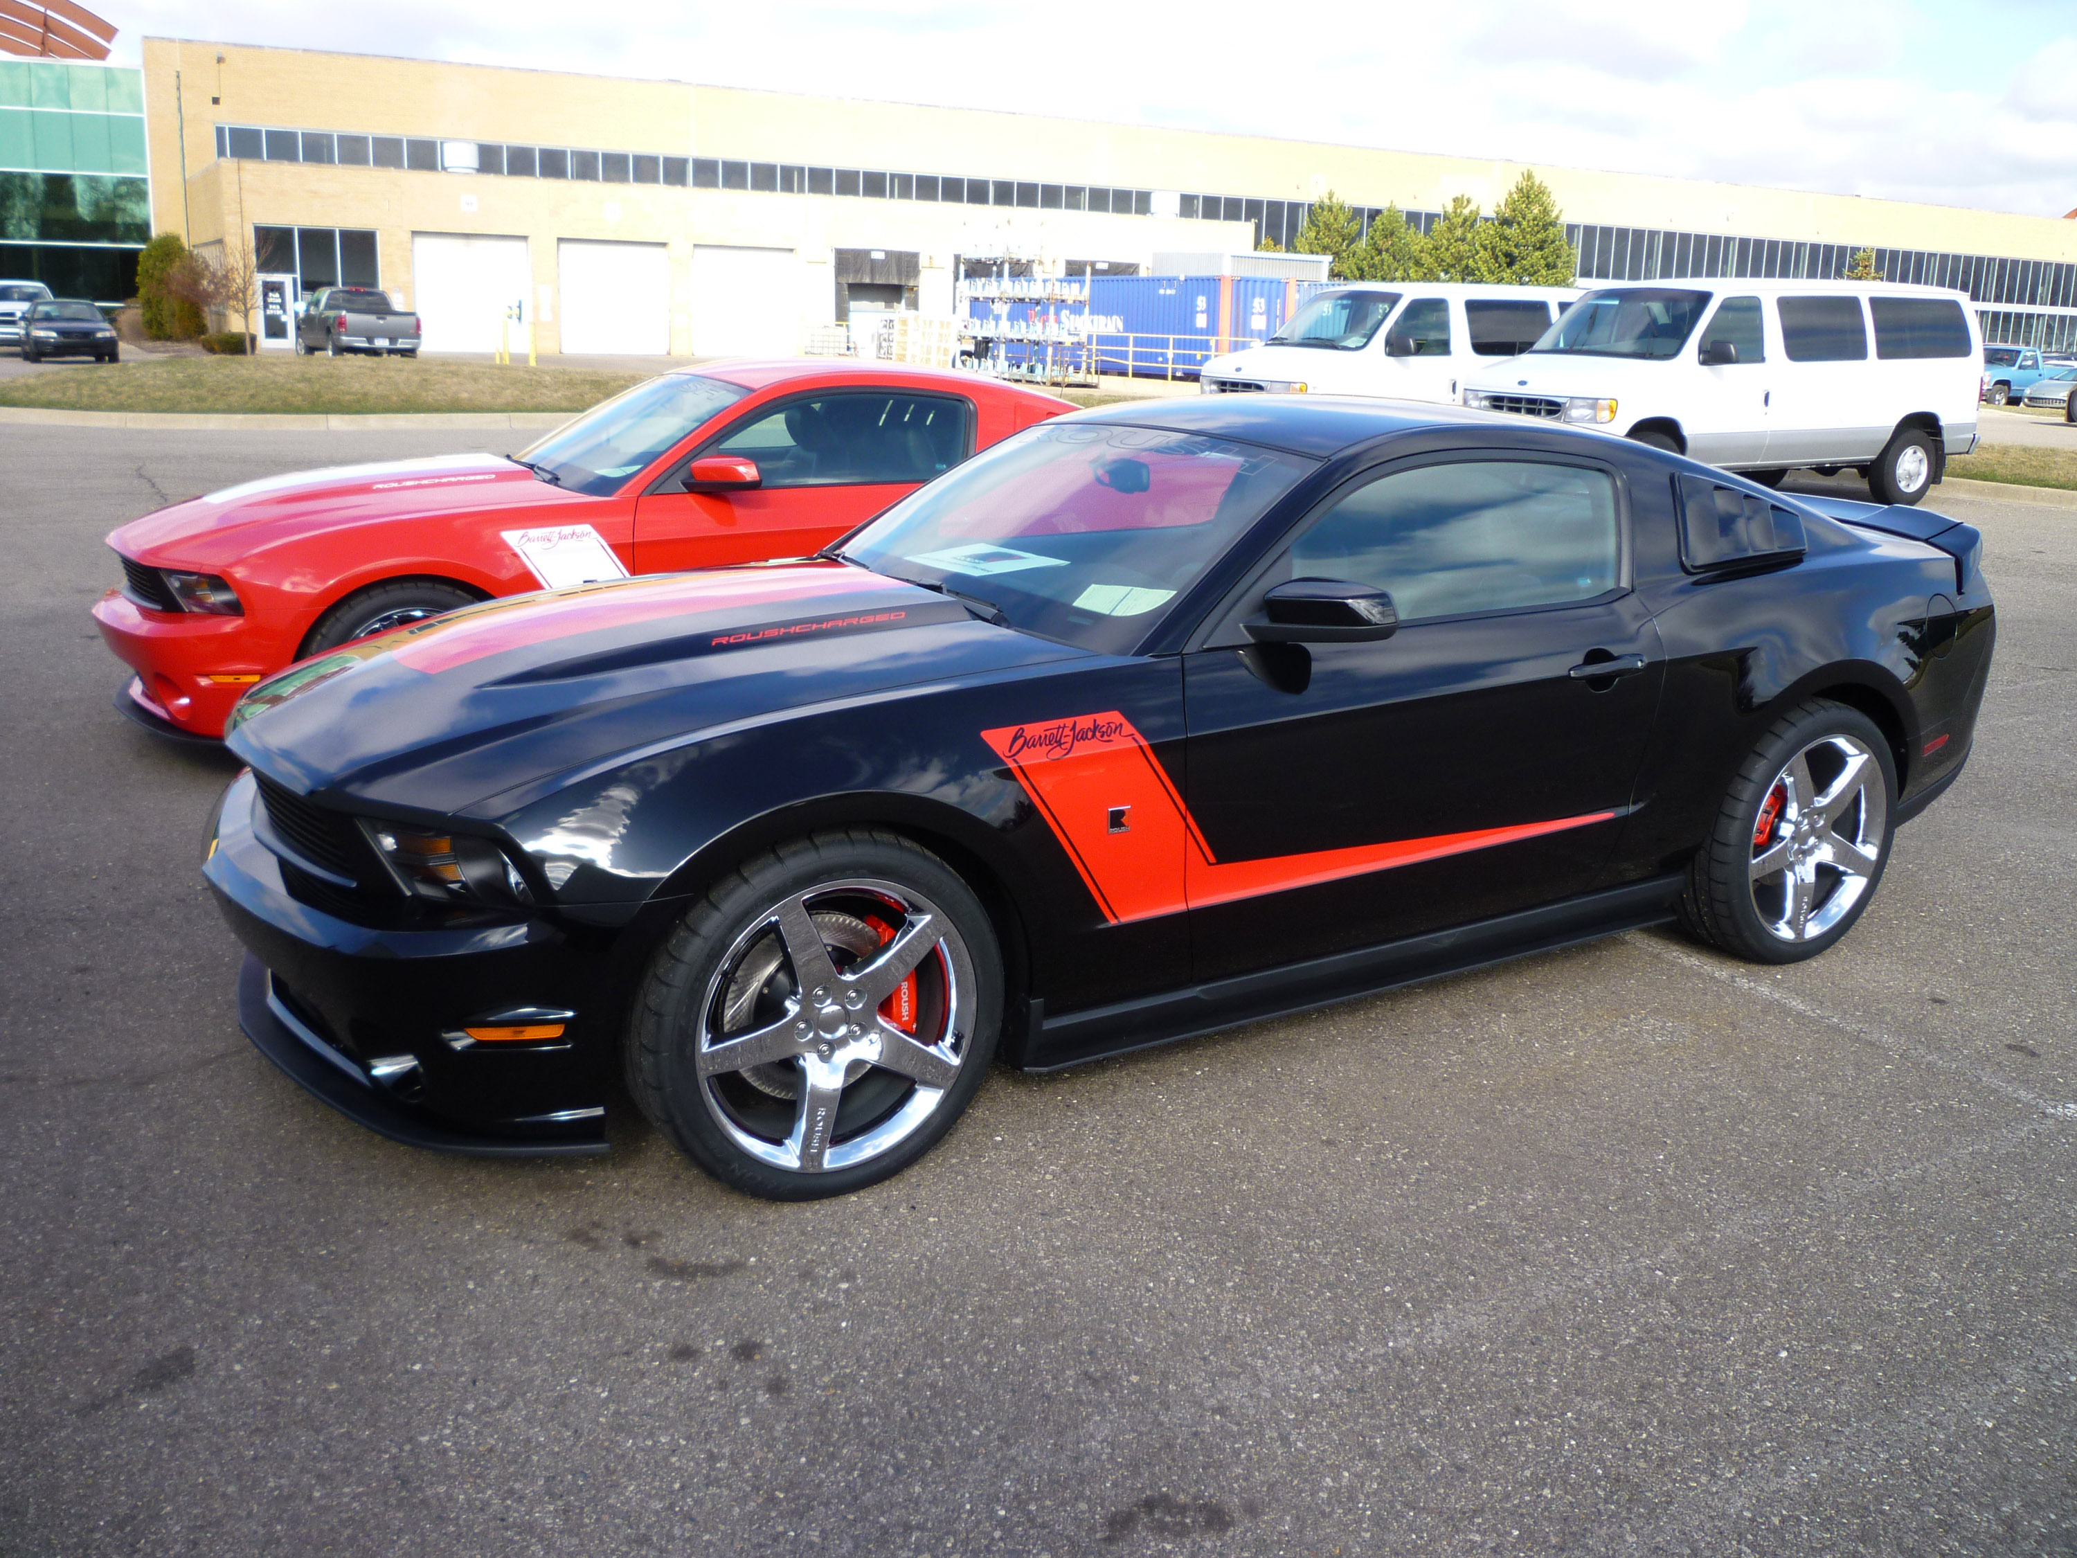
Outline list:
[[[590,71],[2062,216],[2071,0],[102,0],[143,35]],[[1363,199],[1363,191],[1344,191]]]

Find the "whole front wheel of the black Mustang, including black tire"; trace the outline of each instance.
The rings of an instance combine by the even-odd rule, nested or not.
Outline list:
[[[876,974],[881,947],[920,960],[887,999],[901,962]],[[845,991],[852,978],[864,989]],[[901,991],[914,1037],[887,1018]],[[656,949],[627,1022],[627,1089],[744,1194],[847,1194],[951,1130],[995,1057],[1001,1005],[995,931],[951,866],[883,829],[814,833],[721,877]],[[733,1066],[746,1032],[768,1035],[750,1051],[764,1059]]]

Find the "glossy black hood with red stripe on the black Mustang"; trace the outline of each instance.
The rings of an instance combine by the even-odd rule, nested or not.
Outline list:
[[[303,661],[228,746],[303,794],[496,816],[615,754],[1080,650],[847,563],[671,573],[492,600]],[[546,785],[552,789],[552,785]]]

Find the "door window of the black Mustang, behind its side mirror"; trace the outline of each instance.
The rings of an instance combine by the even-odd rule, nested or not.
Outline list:
[[[1290,550],[1290,577],[1373,584],[1402,621],[1593,600],[1620,565],[1608,472],[1506,459],[1381,476]]]

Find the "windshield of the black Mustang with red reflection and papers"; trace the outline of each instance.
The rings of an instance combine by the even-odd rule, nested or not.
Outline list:
[[[1223,438],[1049,422],[912,492],[843,557],[1126,654],[1309,469]]]

